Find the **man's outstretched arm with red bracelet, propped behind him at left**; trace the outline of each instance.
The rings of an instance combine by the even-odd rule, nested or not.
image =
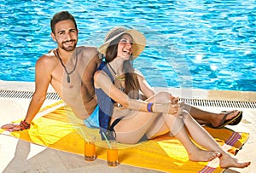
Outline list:
[[[35,91],[27,109],[26,118],[20,124],[5,124],[1,127],[2,129],[17,131],[30,128],[32,119],[35,118],[46,98],[47,89],[51,80],[51,66],[49,66],[49,63],[49,57],[45,55],[38,59],[36,63]]]

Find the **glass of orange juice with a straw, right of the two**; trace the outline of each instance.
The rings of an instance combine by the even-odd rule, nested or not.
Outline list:
[[[117,141],[109,141],[107,148],[107,164],[108,166],[119,165],[119,150],[117,147]]]

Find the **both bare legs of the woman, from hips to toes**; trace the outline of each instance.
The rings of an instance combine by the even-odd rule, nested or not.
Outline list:
[[[169,95],[160,93],[150,98],[149,101],[161,102],[169,101]],[[184,114],[183,118],[165,115],[165,114],[155,114],[148,112],[132,112],[133,115],[129,119],[123,119],[114,128],[117,134],[117,140],[124,143],[136,143],[145,133],[148,137],[154,136],[154,134],[162,133],[166,130],[171,130],[172,134],[177,137],[179,141],[183,143],[183,146],[189,153],[189,159],[193,161],[209,161],[218,157],[217,153],[212,151],[217,151],[222,153],[220,157],[221,167],[246,167],[249,162],[239,163],[236,159],[230,156],[230,154],[224,152],[218,143],[214,141],[212,136],[209,136],[206,131],[201,129],[201,126],[195,122],[189,114]],[[191,119],[193,121],[191,121]],[[189,139],[187,130],[183,125],[183,121],[187,124],[190,134],[194,135],[195,138],[202,147],[208,147],[209,150],[201,150],[196,147],[195,144]],[[192,124],[191,126],[189,124]],[[167,129],[166,129],[167,127]],[[193,133],[192,133],[193,132]],[[198,134],[199,133],[199,134]],[[206,137],[206,139],[200,139],[195,134]],[[213,141],[212,141],[213,139]],[[209,143],[209,144],[207,144]]]

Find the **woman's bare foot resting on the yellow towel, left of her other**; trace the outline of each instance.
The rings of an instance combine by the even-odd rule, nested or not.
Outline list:
[[[209,162],[218,158],[221,154],[213,151],[205,151],[198,149],[194,153],[189,153],[189,160],[193,162]]]

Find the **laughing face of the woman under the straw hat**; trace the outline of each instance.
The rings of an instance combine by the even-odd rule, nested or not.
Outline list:
[[[130,35],[125,34],[121,37],[118,45],[118,57],[125,58],[125,60],[129,60],[132,53],[132,38]]]

